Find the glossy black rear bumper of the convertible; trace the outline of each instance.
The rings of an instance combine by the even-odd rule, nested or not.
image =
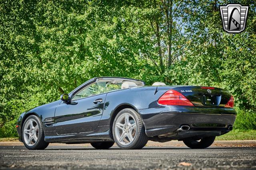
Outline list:
[[[233,126],[236,120],[234,109],[224,110],[225,114],[214,112],[212,109],[196,109],[198,109],[198,112],[194,109],[193,112],[186,109],[156,112],[162,110],[162,108],[138,111],[142,116],[147,136],[164,136],[171,139],[193,136],[220,136],[229,132],[228,128]],[[178,130],[182,125],[190,126],[190,130]]]

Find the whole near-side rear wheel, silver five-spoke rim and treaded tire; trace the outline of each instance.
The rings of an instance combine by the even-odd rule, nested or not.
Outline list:
[[[122,149],[140,149],[148,142],[142,119],[131,108],[125,108],[116,115],[112,132],[114,141]]]

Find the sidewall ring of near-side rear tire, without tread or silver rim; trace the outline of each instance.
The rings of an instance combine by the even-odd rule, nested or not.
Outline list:
[[[134,112],[136,112],[134,110]],[[112,128],[112,132],[113,132],[113,138],[114,138],[114,141],[116,142],[116,144],[120,147],[120,148],[131,148],[132,146],[134,146],[134,144],[136,144],[138,138],[139,138],[139,130],[141,130],[141,128],[139,127],[139,121],[138,121],[138,118],[136,116],[136,114],[134,114],[134,112],[132,112],[131,110],[128,110],[128,109],[123,109],[121,110],[115,117],[114,119],[114,122],[113,122],[113,128]],[[132,141],[132,143],[128,144],[128,145],[122,145],[118,142],[118,140],[116,139],[116,135],[115,135],[115,125],[116,125],[116,121],[118,120],[118,118],[122,115],[122,114],[125,114],[125,113],[130,113],[132,114],[132,116],[134,117],[135,119],[135,122],[136,122],[136,134],[135,134],[135,137],[134,137],[134,140]]]

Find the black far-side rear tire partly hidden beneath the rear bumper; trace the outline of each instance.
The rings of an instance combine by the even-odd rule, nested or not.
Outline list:
[[[201,140],[198,141],[198,139],[188,139],[183,140],[184,144],[192,149],[204,149],[211,146],[211,144],[214,142],[215,136],[210,136],[206,138],[201,138]]]

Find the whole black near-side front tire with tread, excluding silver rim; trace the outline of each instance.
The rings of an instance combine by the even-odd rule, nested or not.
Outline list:
[[[36,121],[37,125],[38,125],[38,139],[37,141],[34,143],[33,146],[28,146],[24,140],[24,127],[26,125],[26,122],[28,122],[29,120],[34,120]],[[24,145],[26,146],[26,148],[28,148],[29,150],[44,150],[49,143],[44,141],[44,129],[43,129],[43,124],[41,122],[41,120],[35,116],[35,115],[30,115],[28,116],[28,118],[26,118],[25,122],[22,124],[22,141],[24,143]]]

